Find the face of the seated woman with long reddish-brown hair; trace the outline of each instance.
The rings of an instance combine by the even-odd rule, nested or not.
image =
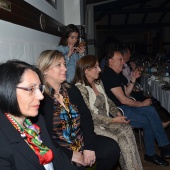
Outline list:
[[[99,63],[97,61],[93,68],[85,70],[85,75],[89,82],[93,82],[94,80],[99,78],[100,72],[101,72],[101,69],[100,69]]]

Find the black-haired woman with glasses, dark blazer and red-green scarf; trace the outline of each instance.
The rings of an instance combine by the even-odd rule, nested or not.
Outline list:
[[[44,98],[38,70],[11,60],[0,64],[0,82],[0,169],[76,170],[38,116]]]

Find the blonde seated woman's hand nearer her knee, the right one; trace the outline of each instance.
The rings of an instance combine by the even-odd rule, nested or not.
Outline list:
[[[86,166],[92,167],[93,164],[96,162],[95,152],[90,151],[90,150],[84,150],[83,155],[84,155],[84,162],[85,162]]]

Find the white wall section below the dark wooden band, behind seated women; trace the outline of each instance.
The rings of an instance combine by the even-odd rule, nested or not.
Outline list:
[[[0,20],[0,62],[20,59],[35,64],[46,49],[56,49],[59,37]]]

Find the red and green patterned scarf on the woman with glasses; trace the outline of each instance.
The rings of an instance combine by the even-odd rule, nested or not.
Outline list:
[[[30,148],[38,156],[40,164],[45,165],[50,163],[54,155],[47,146],[43,145],[39,135],[40,128],[37,125],[32,124],[29,119],[25,119],[24,125],[26,128],[22,128],[21,125],[9,114],[6,113],[5,115],[15,129],[21,134],[21,137],[28,143]]]

